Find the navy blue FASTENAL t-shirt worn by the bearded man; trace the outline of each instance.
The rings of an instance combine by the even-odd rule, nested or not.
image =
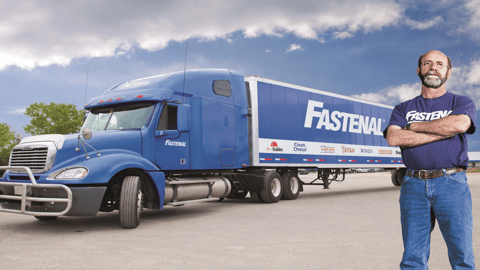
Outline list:
[[[475,103],[470,98],[449,92],[434,99],[420,95],[395,106],[388,125],[403,128],[409,123],[426,122],[459,114],[470,117],[472,124],[466,133],[473,134],[476,109]],[[439,170],[454,166],[466,168],[468,166],[466,133],[416,147],[402,148],[403,162],[412,170]]]

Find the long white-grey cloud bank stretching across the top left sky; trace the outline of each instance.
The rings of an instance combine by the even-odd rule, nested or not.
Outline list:
[[[118,48],[154,51],[190,38],[233,42],[235,32],[244,38],[293,34],[324,42],[328,31],[354,34],[396,25],[404,11],[394,0],[17,0],[0,5],[0,70],[113,57]]]

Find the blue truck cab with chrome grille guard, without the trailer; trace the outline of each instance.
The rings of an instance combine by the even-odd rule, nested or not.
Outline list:
[[[118,209],[130,228],[143,207],[224,198],[231,185],[220,173],[249,164],[245,91],[230,70],[115,85],[85,105],[80,134],[27,137],[13,149],[0,210],[53,219]]]

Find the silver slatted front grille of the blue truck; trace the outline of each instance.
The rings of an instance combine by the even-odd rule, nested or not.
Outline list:
[[[47,165],[48,147],[18,147],[12,150],[10,166],[25,166],[32,171],[43,171]]]

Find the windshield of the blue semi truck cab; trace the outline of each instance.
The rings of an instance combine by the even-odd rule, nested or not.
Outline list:
[[[95,108],[89,112],[82,130],[86,127],[92,131],[140,129],[148,124],[154,108],[154,104]]]

